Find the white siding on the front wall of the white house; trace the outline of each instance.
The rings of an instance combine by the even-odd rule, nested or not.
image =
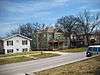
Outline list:
[[[5,54],[7,54],[7,49],[13,49],[13,53],[22,52],[23,48],[27,48],[29,51],[30,40],[27,40],[27,42],[28,42],[27,45],[22,45],[22,40],[27,40],[27,39],[16,36],[16,37],[10,38],[8,40],[5,40],[4,41]],[[7,46],[7,41],[13,41],[13,46]],[[17,49],[19,49],[19,50],[17,51]]]

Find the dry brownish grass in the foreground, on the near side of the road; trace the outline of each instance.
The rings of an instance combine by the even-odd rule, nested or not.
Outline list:
[[[100,56],[36,72],[36,75],[100,75]]]

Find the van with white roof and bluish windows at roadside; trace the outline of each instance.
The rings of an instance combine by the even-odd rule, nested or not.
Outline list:
[[[87,57],[90,57],[92,55],[99,54],[99,53],[100,53],[100,45],[89,46],[86,50]]]

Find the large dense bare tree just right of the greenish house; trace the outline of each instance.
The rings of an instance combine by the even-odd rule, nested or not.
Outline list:
[[[65,39],[68,38],[68,47],[71,47],[71,34],[76,30],[77,17],[70,15],[65,16],[57,20],[56,28],[62,30],[65,35]]]

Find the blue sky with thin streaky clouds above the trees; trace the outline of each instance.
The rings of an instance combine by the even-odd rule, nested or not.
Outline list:
[[[100,12],[100,0],[0,0],[0,36],[18,24],[53,25],[61,16],[78,14],[84,9]]]

